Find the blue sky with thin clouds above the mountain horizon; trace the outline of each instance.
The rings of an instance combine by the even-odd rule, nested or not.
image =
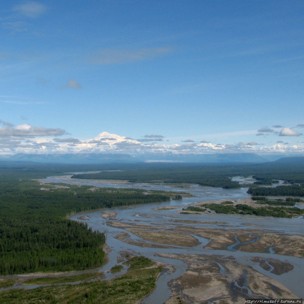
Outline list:
[[[155,151],[304,153],[303,1],[7,1],[0,12],[0,154],[86,151],[102,132]]]

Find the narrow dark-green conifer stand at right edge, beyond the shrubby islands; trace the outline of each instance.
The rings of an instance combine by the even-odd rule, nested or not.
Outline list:
[[[304,196],[304,185],[272,187],[250,187],[247,193],[253,196]]]

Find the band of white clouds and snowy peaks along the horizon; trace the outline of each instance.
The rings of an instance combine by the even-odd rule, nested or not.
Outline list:
[[[260,129],[261,130],[261,129]],[[273,136],[301,136],[302,133],[283,128],[280,132],[264,128]],[[264,134],[264,133],[263,133]],[[123,154],[210,154],[210,153],[293,153],[303,155],[304,143],[293,146],[275,141],[274,145],[265,146],[255,141],[240,141],[234,144],[200,142],[191,139],[181,143],[166,144],[163,135],[146,134],[144,138],[133,140],[130,137],[102,132],[96,137],[79,140],[60,128],[46,128],[12,123],[0,120],[0,155],[16,153],[52,154],[52,153],[123,153]],[[65,137],[66,136],[66,137]]]

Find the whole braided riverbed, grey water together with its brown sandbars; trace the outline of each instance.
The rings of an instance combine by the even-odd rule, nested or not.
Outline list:
[[[188,299],[193,303],[197,301],[210,302],[212,299],[224,299],[230,302],[231,299],[236,301],[236,299],[244,297],[292,298],[295,296],[304,298],[304,283],[302,282],[304,259],[292,256],[294,252],[288,252],[288,250],[285,250],[287,252],[285,255],[276,253],[279,252],[280,247],[287,246],[286,236],[289,239],[293,238],[293,242],[301,244],[304,234],[303,219],[220,215],[207,212],[203,214],[180,213],[183,207],[198,202],[211,200],[234,200],[237,202],[240,199],[249,198],[250,195],[246,193],[247,188],[227,190],[197,185],[191,185],[188,188],[171,188],[168,185],[71,180],[70,176],[50,177],[43,182],[180,191],[188,192],[194,196],[183,198],[181,201],[172,200],[171,202],[128,208],[104,209],[75,214],[70,217],[72,220],[87,223],[93,230],[106,233],[107,245],[111,251],[109,252],[109,263],[102,267],[101,271],[107,271],[118,264],[117,257],[123,251],[144,255],[153,260],[170,264],[176,269],[175,272],[164,271],[157,281],[155,291],[142,303],[163,303],[166,301],[169,303],[174,295]],[[213,242],[211,231],[220,232],[218,233],[221,236],[220,246],[219,243]],[[157,232],[159,232],[158,235]],[[120,233],[124,233],[124,237],[117,237]],[[186,241],[182,242],[182,234],[187,242],[190,238],[196,239],[197,242],[191,245]],[[161,237],[158,238],[158,236]],[[174,236],[176,236],[176,244],[172,244]],[[264,246],[265,242],[261,243],[261,240],[267,239],[267,237],[270,243]],[[281,237],[284,238],[281,240]],[[166,242],[166,238],[170,241]],[[273,240],[276,243],[272,243]],[[254,244],[257,246],[255,247]],[[278,250],[273,246],[274,244],[278,246]],[[209,258],[207,259],[207,257]],[[229,261],[226,257],[229,257]],[[211,260],[211,264],[206,263],[206,259]],[[265,267],[265,263],[272,260],[275,260],[272,265],[276,265],[277,270],[280,265],[287,263],[289,265],[286,268],[287,272],[275,271],[275,273],[282,273],[278,275],[274,273],[273,266]],[[199,261],[204,261],[203,263],[209,266],[202,269],[202,263]],[[195,264],[199,267],[194,267]],[[284,266],[282,267],[284,268]],[[205,281],[204,279],[202,282],[195,280],[198,274],[201,278],[205,278]],[[217,276],[217,290],[221,291],[216,297],[211,296],[212,288],[208,283],[211,282],[210,274],[213,277]],[[109,275],[108,278],[112,277]],[[170,288],[164,283],[169,283]],[[205,292],[199,294],[197,291],[195,297],[193,295],[195,285],[198,288],[203,288]],[[170,295],[173,296],[170,298]]]

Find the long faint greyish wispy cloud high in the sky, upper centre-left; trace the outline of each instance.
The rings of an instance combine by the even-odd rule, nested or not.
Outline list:
[[[96,51],[92,56],[88,57],[88,61],[92,64],[119,64],[151,60],[157,56],[170,52],[172,52],[171,47],[153,47],[137,50],[104,49]]]

